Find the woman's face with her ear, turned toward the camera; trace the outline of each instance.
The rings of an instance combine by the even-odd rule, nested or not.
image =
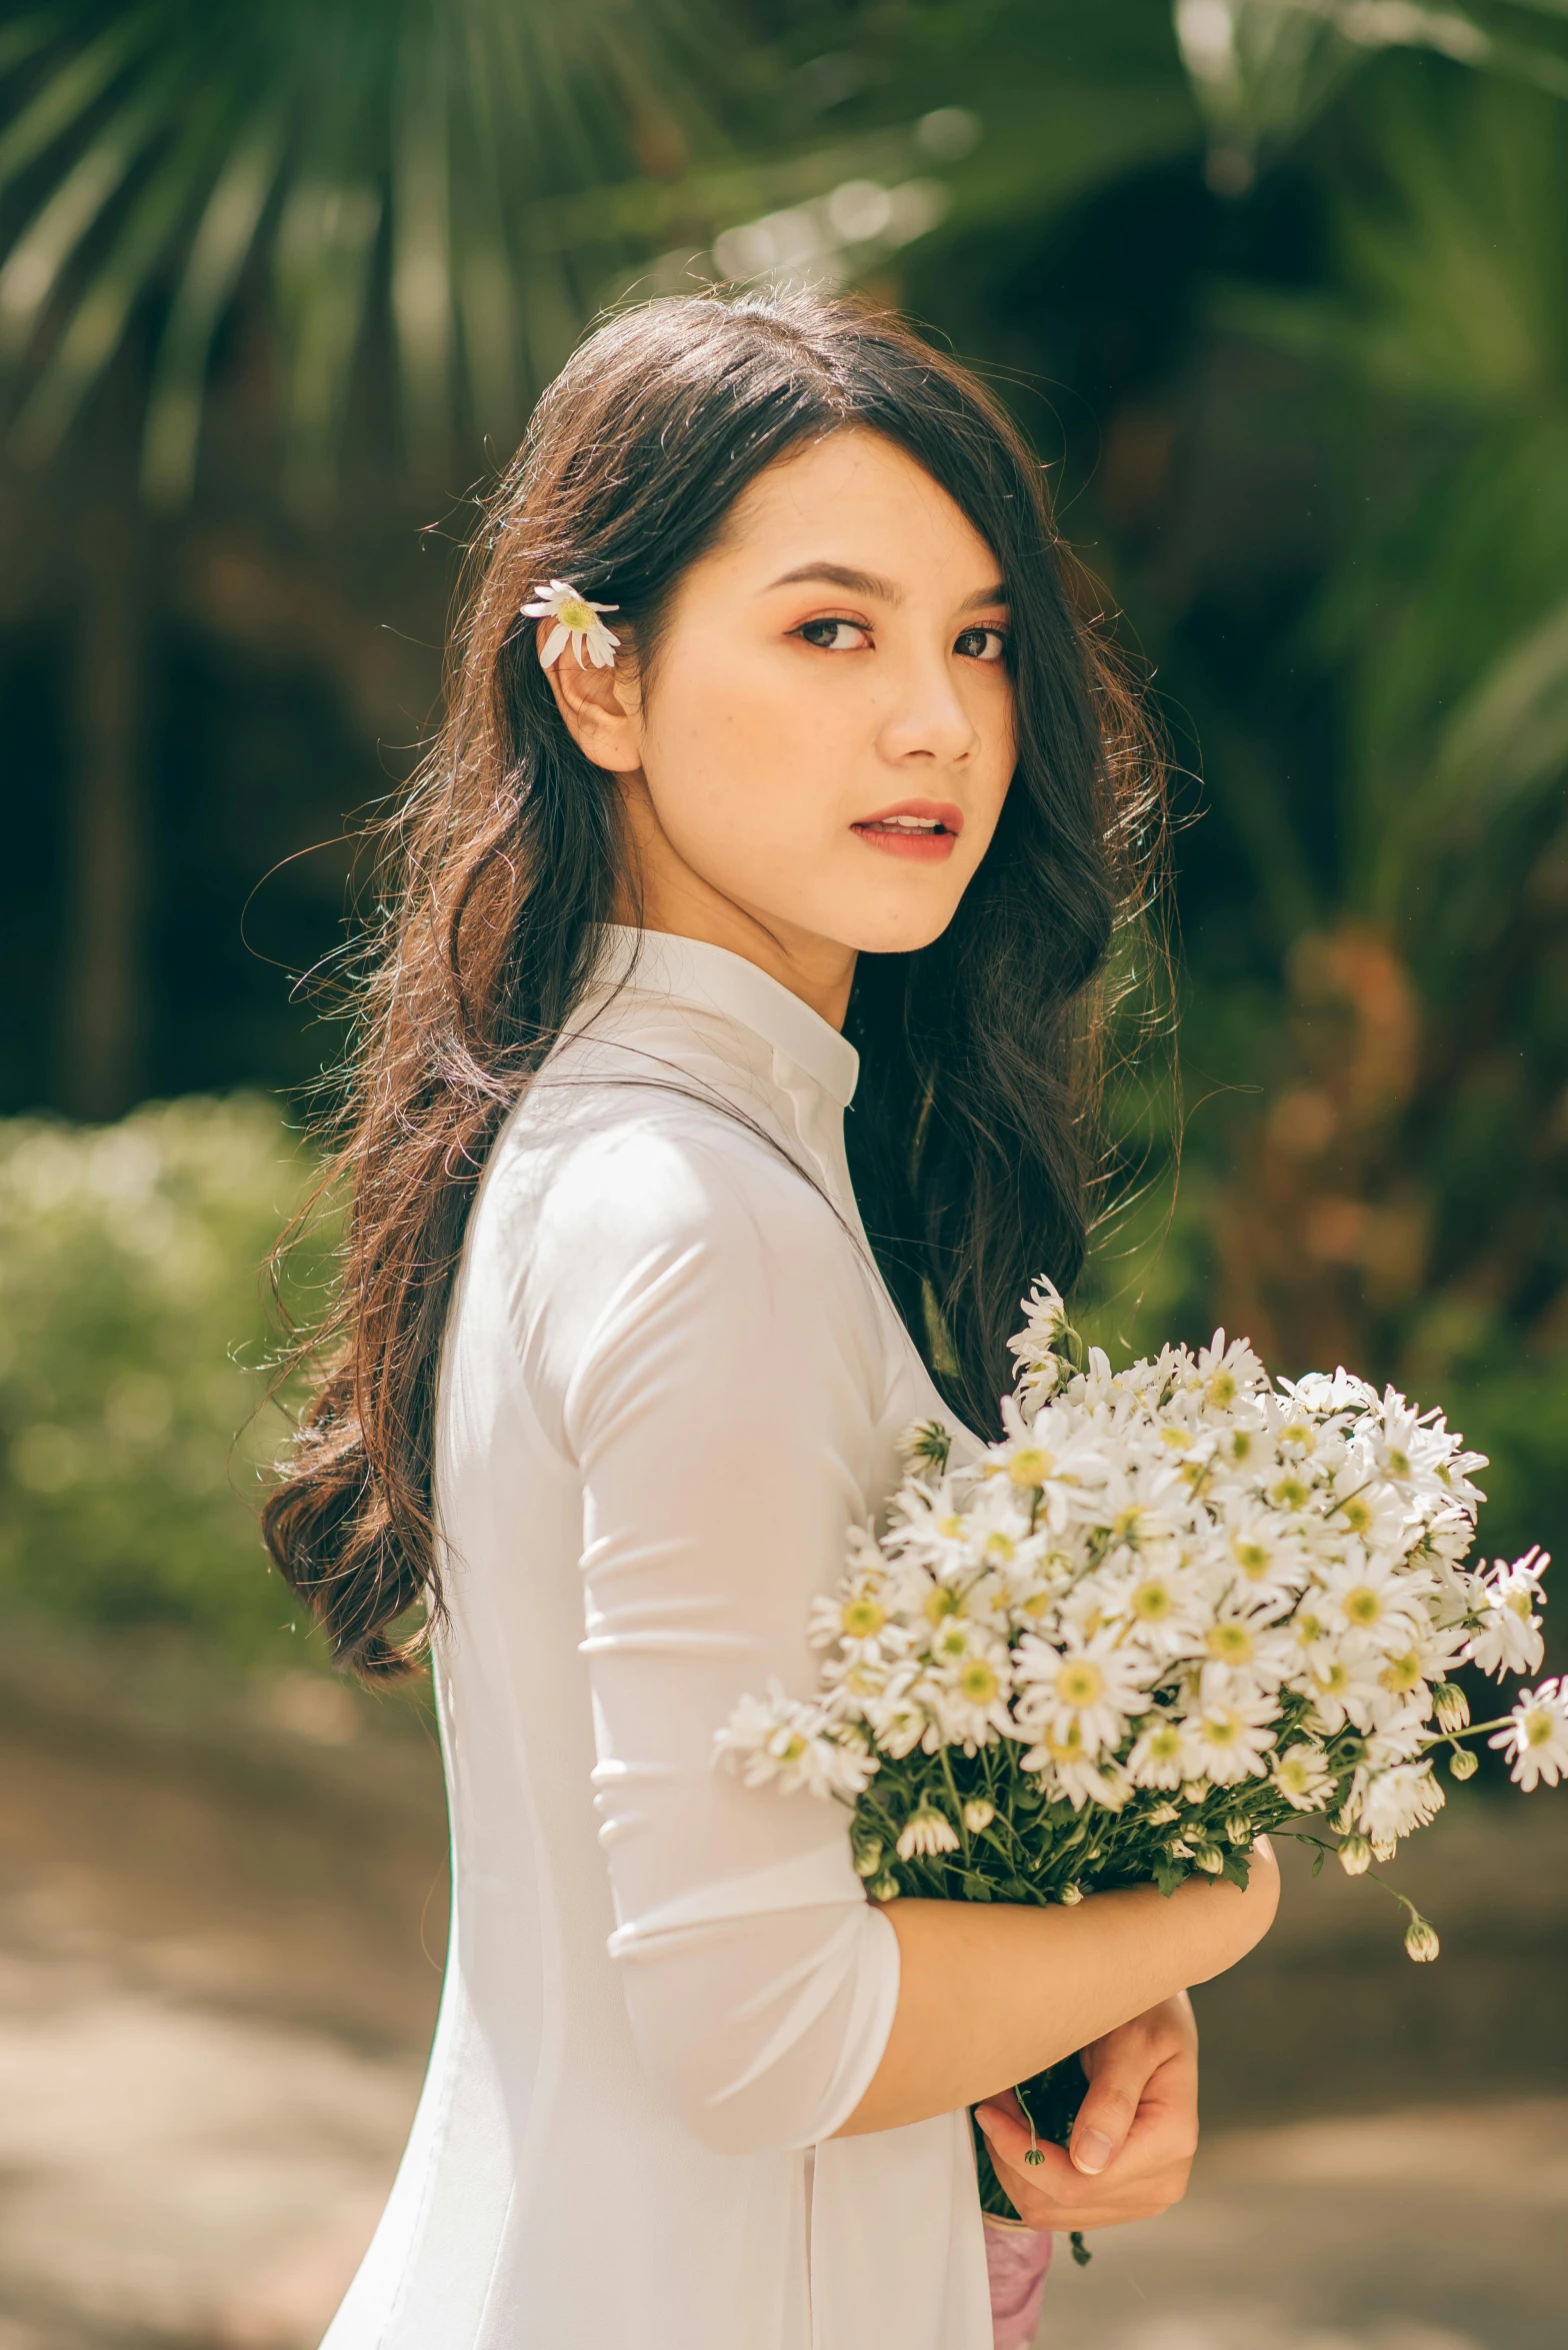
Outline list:
[[[681,580],[646,693],[627,660],[552,670],[620,771],[643,919],[843,1018],[857,949],[930,945],[991,844],[1005,639],[995,555],[892,442],[843,430],[770,465]]]

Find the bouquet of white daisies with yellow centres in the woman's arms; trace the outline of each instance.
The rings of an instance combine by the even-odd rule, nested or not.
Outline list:
[[[1486,1462],[1437,1412],[1345,1370],[1270,1379],[1223,1330],[1113,1372],[1049,1283],[1026,1316],[1002,1441],[955,1466],[941,1422],[911,1431],[885,1532],[817,1603],[819,1687],[772,1683],[718,1734],[749,1786],[852,1805],[878,1901],[1244,1885],[1303,1814],[1359,1875],[1441,1810],[1444,1748],[1472,1777],[1467,1737],[1526,1788],[1568,1772],[1568,1680],[1472,1725],[1448,1678],[1540,1668],[1547,1558],[1465,1565]],[[1021,2096],[1066,2138],[1075,2094]]]

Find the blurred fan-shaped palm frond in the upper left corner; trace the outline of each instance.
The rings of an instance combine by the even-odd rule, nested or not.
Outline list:
[[[333,472],[385,308],[411,454],[516,432],[620,223],[575,282],[542,202],[711,167],[737,38],[709,0],[54,0],[0,38],[0,367],[31,456],[61,446],[136,315],[164,313],[143,486],[190,494],[225,313],[268,303],[284,465]],[[599,223],[594,223],[599,226]]]

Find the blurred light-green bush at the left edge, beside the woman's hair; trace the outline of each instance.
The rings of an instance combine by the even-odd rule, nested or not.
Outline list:
[[[312,1180],[275,1104],[0,1123],[0,1586],[23,1614],[300,1661],[256,1537],[265,1260]],[[317,1260],[317,1271],[322,1271]],[[310,1278],[307,1269],[296,1278]]]

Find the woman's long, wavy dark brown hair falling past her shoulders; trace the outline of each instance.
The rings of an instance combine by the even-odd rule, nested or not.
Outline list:
[[[972,374],[854,301],[676,298],[599,327],[491,496],[446,721],[387,825],[329,1182],[343,1276],[315,1394],[263,1509],[277,1567],[364,1678],[441,1607],[441,1325],[486,1152],[636,902],[615,778],[566,733],[519,623],[533,583],[620,606],[638,660],[735,498],[845,425],[906,449],[998,557],[1019,757],[946,935],[861,956],[850,1163],[883,1274],[953,1408],[995,1422],[1030,1276],[1084,1255],[1096,973],[1141,891],[1160,759],[1084,604],[1038,461]]]

